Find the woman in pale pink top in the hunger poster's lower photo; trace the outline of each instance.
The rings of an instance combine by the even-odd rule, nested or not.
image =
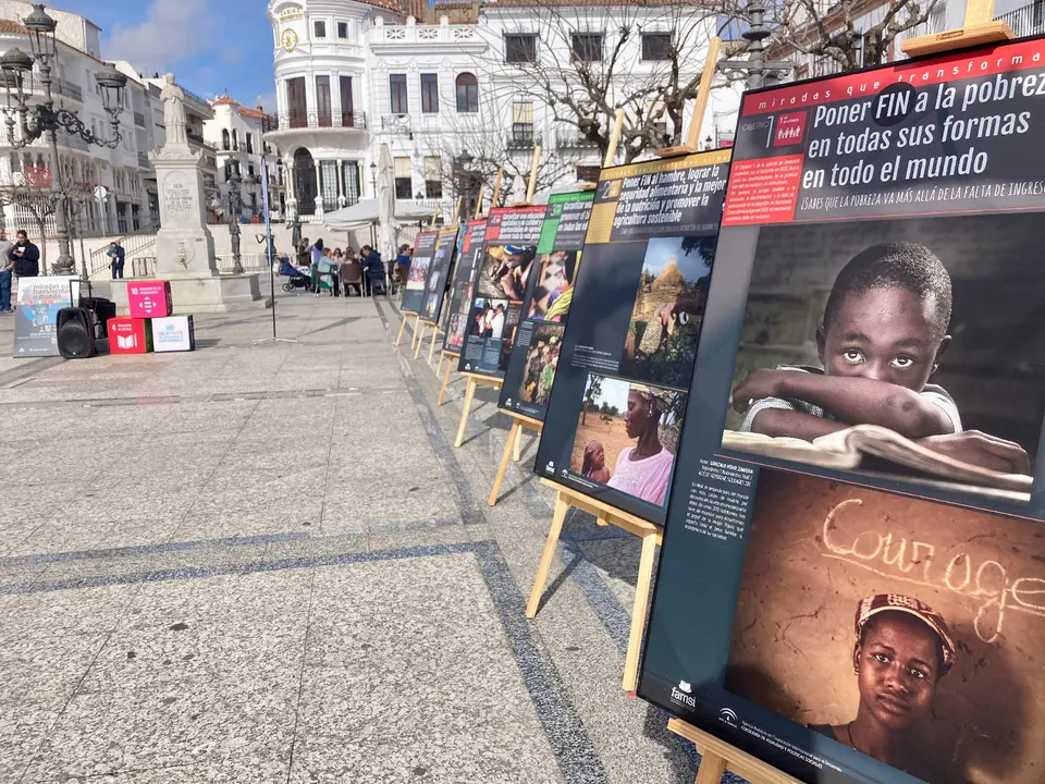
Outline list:
[[[631,384],[624,427],[628,438],[638,439],[635,446],[625,446],[617,455],[608,487],[663,506],[672,480],[675,455],[661,443],[661,415],[668,409],[652,387]]]

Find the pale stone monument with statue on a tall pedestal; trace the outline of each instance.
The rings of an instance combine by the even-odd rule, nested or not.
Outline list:
[[[174,84],[174,74],[164,79],[160,98],[167,140],[149,152],[160,197],[156,277],[171,282],[174,306],[181,311],[222,311],[260,299],[257,273],[218,274],[214,237],[207,228],[200,154],[188,146],[185,94]]]

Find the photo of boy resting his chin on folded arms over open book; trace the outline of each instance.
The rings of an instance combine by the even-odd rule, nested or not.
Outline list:
[[[800,277],[814,285],[785,292],[779,244],[798,235],[762,232],[726,419],[727,431],[757,436],[725,439],[728,448],[759,453],[770,439],[814,442],[876,426],[912,451],[971,467],[967,482],[989,483],[984,471],[993,471],[995,487],[1012,485],[1001,477],[1025,477],[1029,487],[1045,411],[1033,339],[1043,332],[1034,303],[1045,285],[1041,275],[1021,284],[1004,272],[1034,253],[1028,218],[801,226],[816,253],[799,261]],[[1009,224],[1004,238],[999,222]],[[987,226],[973,241],[970,232]],[[858,245],[863,237],[873,241]],[[988,350],[984,329],[1005,353]],[[1012,407],[999,409],[1000,399]],[[931,465],[918,467],[932,475]],[[955,475],[934,480],[942,476]]]

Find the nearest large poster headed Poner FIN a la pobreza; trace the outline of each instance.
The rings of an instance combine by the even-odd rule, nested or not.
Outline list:
[[[745,95],[639,693],[806,782],[1033,784],[1045,39]]]

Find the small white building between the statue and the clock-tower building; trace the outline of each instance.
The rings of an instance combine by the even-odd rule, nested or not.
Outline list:
[[[241,106],[228,95],[210,101],[214,117],[204,123],[204,140],[213,147],[218,159],[218,185],[228,197],[228,183],[234,169],[242,179],[241,198],[246,217],[261,211],[261,160],[269,173],[269,204],[273,217],[285,209],[283,169],[275,149],[262,136],[276,128],[275,118],[261,107]],[[253,181],[253,182],[251,182]]]

